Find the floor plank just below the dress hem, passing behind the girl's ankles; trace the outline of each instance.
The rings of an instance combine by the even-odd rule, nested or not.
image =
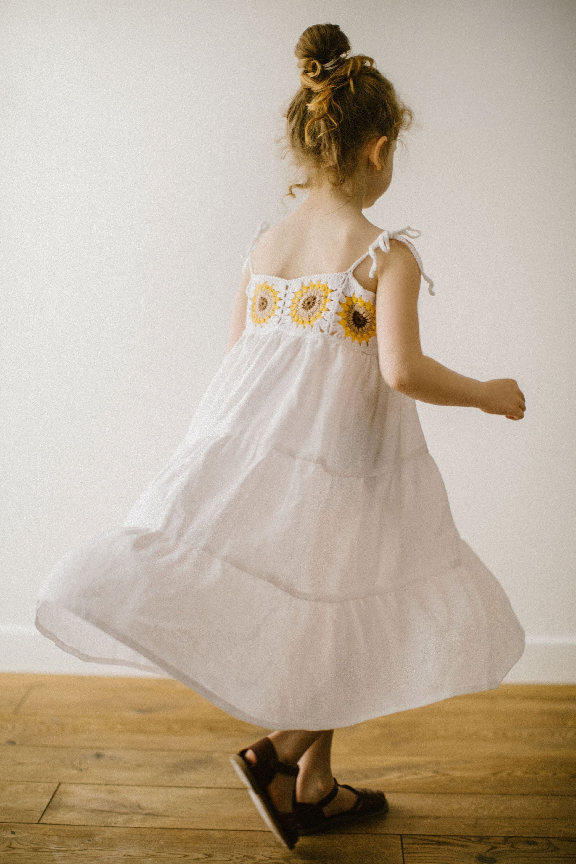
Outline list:
[[[234,753],[268,730],[233,719],[189,721],[171,718],[67,718],[49,715],[0,715],[0,743],[19,746],[89,746],[129,749],[193,750]],[[573,759],[576,727],[493,727],[486,721],[405,724],[378,727],[373,721],[334,734],[338,755],[443,759]]]

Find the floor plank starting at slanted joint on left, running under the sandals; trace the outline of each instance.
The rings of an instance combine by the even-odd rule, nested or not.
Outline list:
[[[388,798],[388,815],[346,826],[344,832],[469,835],[477,831],[514,836],[574,833],[576,802],[570,796],[391,792]],[[260,816],[244,790],[166,786],[61,784],[41,821],[137,828],[262,829]]]

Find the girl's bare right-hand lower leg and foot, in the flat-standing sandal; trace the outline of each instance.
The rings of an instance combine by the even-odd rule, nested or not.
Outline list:
[[[333,729],[322,732],[299,759],[300,773],[296,778],[296,800],[303,804],[316,804],[332,791],[334,778],[330,764]],[[358,796],[349,789],[339,789],[330,804],[323,807],[326,816],[350,810]]]

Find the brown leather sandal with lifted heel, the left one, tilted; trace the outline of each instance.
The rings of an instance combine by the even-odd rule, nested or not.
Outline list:
[[[256,765],[252,765],[245,758],[245,753],[252,750],[256,753]],[[269,829],[288,849],[293,849],[298,842],[299,831],[294,814],[296,791],[294,784],[293,810],[290,813],[281,813],[276,810],[275,805],[266,791],[276,774],[288,774],[290,777],[298,776],[298,766],[289,765],[288,762],[280,762],[275,746],[266,737],[256,741],[250,747],[241,750],[231,756],[231,763],[238,777],[248,787],[248,793],[256,804],[256,809],[263,817]]]

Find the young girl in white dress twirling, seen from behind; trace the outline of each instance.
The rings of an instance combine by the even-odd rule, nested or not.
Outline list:
[[[415,406],[519,420],[524,396],[423,356],[420,232],[362,213],[411,111],[334,24],[295,54],[287,134],[307,197],[256,232],[185,441],[122,528],[56,565],[36,617],[65,651],[163,670],[275,729],[232,764],[288,848],[388,807],[334,780],[334,727],[495,688],[524,647]]]

